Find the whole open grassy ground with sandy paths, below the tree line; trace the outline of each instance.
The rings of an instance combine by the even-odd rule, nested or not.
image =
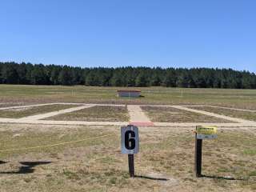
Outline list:
[[[153,87],[135,99],[106,87],[0,90],[0,191],[256,190],[256,90]],[[136,178],[120,151],[129,122],[140,134]],[[203,141],[202,178],[198,125],[218,126],[218,138]]]

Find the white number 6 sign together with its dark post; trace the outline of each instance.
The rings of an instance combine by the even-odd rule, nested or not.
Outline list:
[[[138,127],[133,125],[121,127],[122,154],[128,154],[129,174],[134,178],[134,154],[138,153]]]

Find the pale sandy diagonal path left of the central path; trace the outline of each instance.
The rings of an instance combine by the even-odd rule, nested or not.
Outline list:
[[[77,107],[68,108],[66,110],[53,111],[53,112],[46,113],[46,114],[31,115],[26,118],[18,118],[17,121],[30,123],[30,121],[34,121],[34,120],[38,120],[38,119],[42,119],[42,118],[50,118],[50,117],[58,115],[58,114],[66,114],[66,113],[70,113],[70,112],[73,112],[76,110],[83,110],[83,109],[86,109],[86,108],[89,108],[92,106],[93,105],[77,106]]]

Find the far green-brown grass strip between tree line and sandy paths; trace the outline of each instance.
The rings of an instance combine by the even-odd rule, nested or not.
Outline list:
[[[138,88],[144,97],[117,98],[118,87],[0,85],[0,103],[97,102],[203,104],[256,110],[256,90]],[[129,88],[134,89],[134,88]]]

